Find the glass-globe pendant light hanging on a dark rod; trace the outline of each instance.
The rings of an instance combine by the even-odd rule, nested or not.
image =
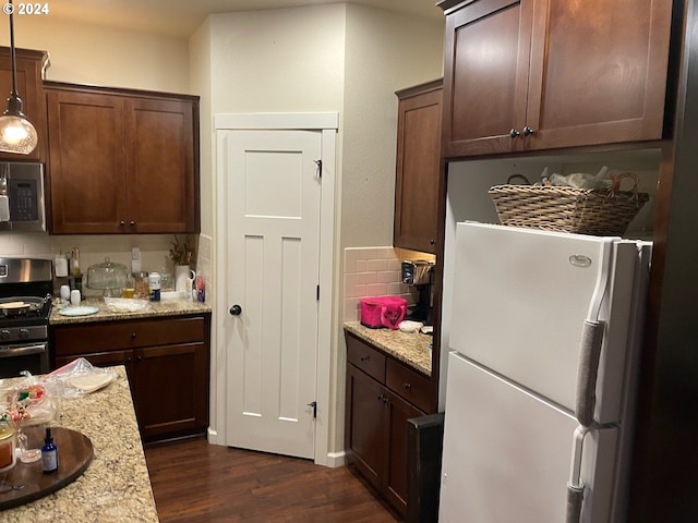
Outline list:
[[[7,7],[7,5],[5,5]],[[17,94],[17,64],[14,49],[14,7],[9,1],[9,9],[4,9],[10,15],[10,56],[12,60],[12,92],[8,98],[8,108],[0,117],[0,151],[28,155],[34,150],[38,142],[36,129],[22,112],[22,99]]]

